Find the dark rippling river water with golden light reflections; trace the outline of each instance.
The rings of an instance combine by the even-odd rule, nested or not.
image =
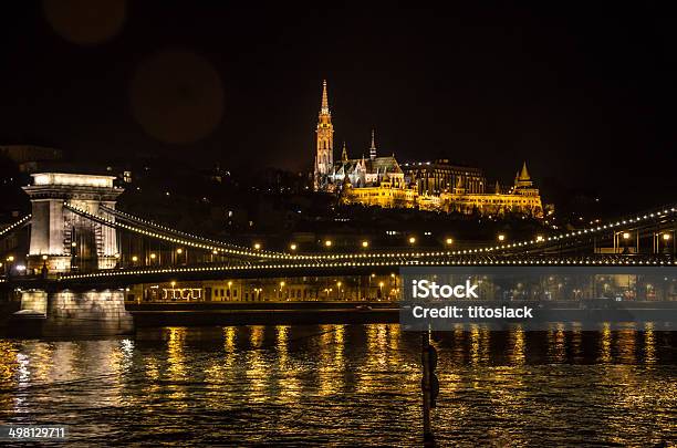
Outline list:
[[[677,444],[677,333],[447,333],[440,446]],[[0,340],[0,423],[69,446],[419,446],[420,337],[397,324]],[[2,442],[0,442],[1,445]]]

